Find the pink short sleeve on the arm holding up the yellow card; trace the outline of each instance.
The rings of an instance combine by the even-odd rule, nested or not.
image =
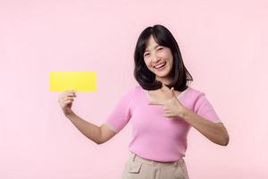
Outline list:
[[[133,98],[134,90],[129,90],[121,96],[113,111],[107,116],[105,125],[113,132],[120,132],[122,128],[130,121],[131,99]]]

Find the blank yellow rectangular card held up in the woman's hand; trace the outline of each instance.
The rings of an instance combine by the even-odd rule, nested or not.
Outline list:
[[[50,72],[51,91],[96,91],[96,72]]]

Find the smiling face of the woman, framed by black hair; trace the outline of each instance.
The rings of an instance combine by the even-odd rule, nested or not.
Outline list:
[[[169,74],[172,72],[173,65],[172,50],[169,47],[158,45],[151,35],[143,56],[147,68],[155,73],[155,79],[168,84],[170,82]]]

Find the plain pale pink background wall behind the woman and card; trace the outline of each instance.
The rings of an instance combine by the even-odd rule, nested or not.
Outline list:
[[[51,71],[95,71],[97,92],[73,110],[102,124],[137,82],[141,30],[160,23],[177,39],[192,87],[205,91],[230,133],[221,147],[195,129],[192,179],[268,178],[267,1],[0,1],[0,178],[117,179],[130,125],[96,145],[64,117]]]

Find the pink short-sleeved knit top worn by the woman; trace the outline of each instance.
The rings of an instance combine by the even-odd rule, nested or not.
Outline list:
[[[130,122],[129,150],[141,158],[176,161],[185,156],[190,125],[180,117],[163,116],[163,106],[148,105],[148,91],[135,86],[127,91],[107,117],[105,124],[114,132]],[[221,123],[205,93],[188,87],[177,98],[184,107],[214,123]]]

